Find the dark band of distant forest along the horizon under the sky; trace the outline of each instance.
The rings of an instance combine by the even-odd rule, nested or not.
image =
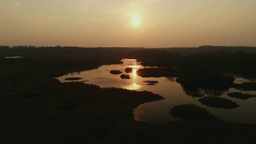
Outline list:
[[[226,51],[226,52],[250,52],[256,53],[256,47],[251,46],[199,46],[199,47],[183,47],[183,48],[143,48],[143,47],[95,47],[84,48],[76,46],[0,46],[0,56],[40,56],[40,55],[112,55],[124,54],[128,52],[136,52],[141,50],[162,50],[181,54],[182,56],[190,54],[200,54],[204,52]],[[61,51],[60,51],[61,50]]]

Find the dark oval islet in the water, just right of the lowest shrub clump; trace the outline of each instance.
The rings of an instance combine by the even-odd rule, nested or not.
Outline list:
[[[233,102],[232,100],[226,98],[218,98],[214,96],[200,98],[198,101],[206,106],[214,108],[232,109],[239,106],[238,104],[236,104],[236,102]]]

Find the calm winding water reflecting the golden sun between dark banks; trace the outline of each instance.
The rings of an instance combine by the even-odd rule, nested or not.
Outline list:
[[[210,108],[201,104],[198,99],[192,96],[188,96],[182,86],[175,82],[175,78],[142,78],[136,75],[136,70],[141,68],[146,68],[140,65],[140,62],[136,60],[123,59],[123,64],[113,64],[100,66],[98,69],[88,70],[83,72],[74,72],[64,76],[60,76],[57,79],[60,82],[71,82],[70,80],[65,80],[65,78],[79,77],[83,78],[81,80],[76,80],[78,82],[84,82],[88,84],[95,84],[100,87],[116,87],[125,88],[129,90],[147,90],[156,94],[160,94],[165,99],[158,100],[155,102],[147,102],[141,104],[134,109],[134,119],[141,122],[147,122],[149,124],[159,125],[175,120],[180,120],[179,118],[174,118],[169,114],[170,108],[175,105],[180,104],[196,104],[202,108],[206,108],[211,114],[218,116],[221,120],[226,122],[235,123],[247,123],[256,124],[256,98],[249,98],[247,100],[240,100],[238,98],[232,98],[226,95],[229,92],[242,92],[247,94],[256,94],[256,91],[240,91],[234,88],[228,89],[220,97],[228,98],[240,106],[231,110],[225,110],[220,108]],[[131,79],[121,79],[121,74],[110,74],[110,70],[120,70],[123,73],[125,68],[132,68],[133,72],[129,73]],[[235,83],[248,82],[249,80],[235,77]],[[147,80],[158,81],[156,85],[147,85]],[[202,92],[203,93],[203,92]],[[207,94],[205,94],[207,96]],[[210,95],[210,94],[209,94]]]

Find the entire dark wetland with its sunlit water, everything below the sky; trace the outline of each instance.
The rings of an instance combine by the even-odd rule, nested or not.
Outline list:
[[[255,54],[178,50],[1,49],[0,142],[255,143]]]

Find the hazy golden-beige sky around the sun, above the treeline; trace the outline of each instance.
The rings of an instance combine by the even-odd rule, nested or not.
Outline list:
[[[256,46],[256,0],[0,0],[0,45]]]

